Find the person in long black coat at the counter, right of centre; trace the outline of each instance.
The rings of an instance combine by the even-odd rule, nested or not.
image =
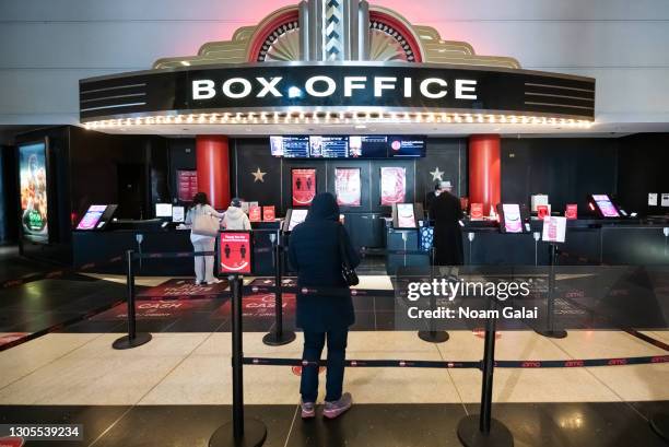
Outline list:
[[[430,219],[434,220],[433,245],[436,250],[436,266],[461,266],[462,233],[459,220],[462,219],[460,199],[450,193],[450,183],[439,185],[439,193],[430,205]]]

